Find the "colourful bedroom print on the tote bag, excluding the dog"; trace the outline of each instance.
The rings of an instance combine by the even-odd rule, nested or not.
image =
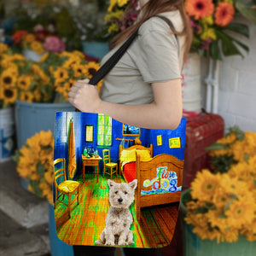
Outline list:
[[[185,132],[186,119],[174,131],[149,130],[101,113],[56,113],[57,236],[71,245],[96,245],[111,206],[110,183],[137,180],[129,207],[133,240],[125,246],[170,244],[183,183]]]

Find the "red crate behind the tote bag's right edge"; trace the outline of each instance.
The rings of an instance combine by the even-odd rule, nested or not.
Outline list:
[[[201,113],[198,119],[187,119],[183,168],[183,189],[188,189],[195,174],[209,167],[209,154],[205,148],[224,137],[224,119],[214,113]]]

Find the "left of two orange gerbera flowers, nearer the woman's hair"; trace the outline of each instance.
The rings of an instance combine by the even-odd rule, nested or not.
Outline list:
[[[212,0],[187,0],[185,9],[189,16],[194,16],[195,20],[203,19],[214,12]]]

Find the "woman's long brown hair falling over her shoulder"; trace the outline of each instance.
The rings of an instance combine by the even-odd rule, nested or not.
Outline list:
[[[130,0],[130,3],[128,3],[124,16],[129,14],[132,9],[134,9],[134,3]],[[143,6],[143,12],[140,17],[140,20],[135,23],[134,25],[128,27],[125,29],[124,32],[120,32],[117,38],[114,39],[113,46],[116,46],[118,44],[121,44],[125,41],[126,38],[129,38],[133,32],[136,32],[136,30],[143,24],[145,20],[147,20],[149,17],[153,15],[160,15],[161,13],[172,11],[173,9],[178,9],[180,11],[180,14],[183,19],[183,31],[177,32],[172,29],[172,32],[177,35],[185,35],[185,46],[184,46],[184,55],[183,60],[185,60],[186,56],[189,53],[190,45],[192,42],[192,29],[189,22],[189,17],[185,11],[184,8],[184,0],[148,0],[148,3],[144,4]]]

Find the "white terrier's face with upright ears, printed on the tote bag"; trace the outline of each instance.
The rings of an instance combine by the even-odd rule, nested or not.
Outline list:
[[[134,190],[137,188],[137,179],[131,183],[115,183],[108,179],[109,202],[112,207],[128,208],[134,201]]]

